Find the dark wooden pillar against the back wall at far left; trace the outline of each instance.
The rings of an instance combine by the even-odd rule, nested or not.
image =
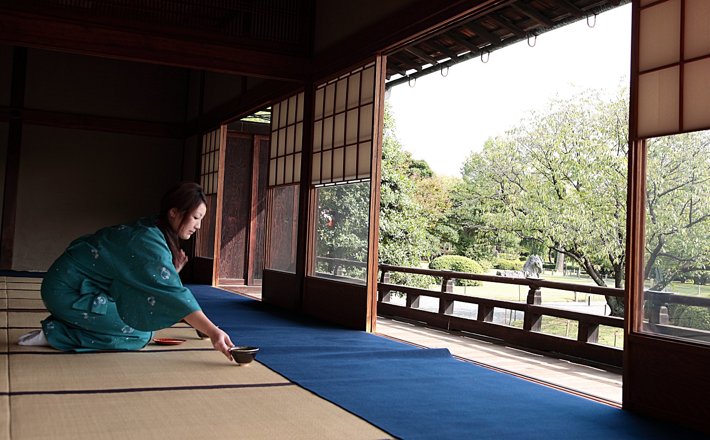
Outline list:
[[[5,162],[5,186],[0,234],[0,269],[12,269],[15,252],[15,220],[17,193],[20,181],[20,153],[22,146],[22,111],[25,105],[25,77],[27,48],[16,47],[12,61],[10,91],[10,121]]]

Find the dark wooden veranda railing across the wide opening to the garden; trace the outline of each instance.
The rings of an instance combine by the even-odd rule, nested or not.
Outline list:
[[[597,342],[599,340],[599,326],[623,328],[623,318],[595,315],[593,313],[572,311],[552,306],[542,306],[541,289],[568,290],[618,297],[623,297],[623,289],[561,283],[557,281],[546,281],[544,279],[511,278],[447,270],[419,269],[415,267],[391,266],[388,264],[380,264],[379,269],[382,271],[382,274],[380,282],[378,283],[378,314],[420,321],[445,330],[467,331],[491,338],[506,340],[509,343],[526,348],[549,350],[621,367],[623,350],[608,345],[601,345]],[[440,291],[434,291],[391,284],[390,272],[441,277],[442,288]],[[454,294],[454,279],[471,279],[528,286],[528,296],[525,302],[522,302]],[[393,291],[405,294],[405,306],[391,304],[390,299]],[[439,311],[431,312],[419,309],[420,296],[438,298]],[[477,304],[477,318],[470,319],[454,316],[454,302]],[[506,308],[508,310],[522,311],[525,313],[523,328],[493,323],[493,311],[495,308]],[[577,340],[540,333],[542,316],[553,316],[577,321],[579,323]]]

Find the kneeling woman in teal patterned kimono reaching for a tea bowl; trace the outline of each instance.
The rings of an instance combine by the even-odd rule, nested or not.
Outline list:
[[[153,331],[185,320],[231,360],[229,336],[204,316],[178,277],[187,262],[178,242],[200,229],[206,200],[199,185],[183,182],[163,195],[160,214],[74,240],[42,282],[51,316],[42,321],[42,331],[18,343],[137,350]]]

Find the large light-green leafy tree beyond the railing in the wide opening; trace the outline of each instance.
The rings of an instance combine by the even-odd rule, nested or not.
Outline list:
[[[515,233],[565,254],[599,286],[606,261],[623,286],[626,258],[628,95],[593,91],[552,100],[540,112],[488,139],[462,168],[464,228]],[[613,315],[623,304],[608,296]]]

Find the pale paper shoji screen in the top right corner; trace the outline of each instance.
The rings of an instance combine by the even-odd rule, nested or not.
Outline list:
[[[710,1],[640,0],[638,130],[710,128]]]

